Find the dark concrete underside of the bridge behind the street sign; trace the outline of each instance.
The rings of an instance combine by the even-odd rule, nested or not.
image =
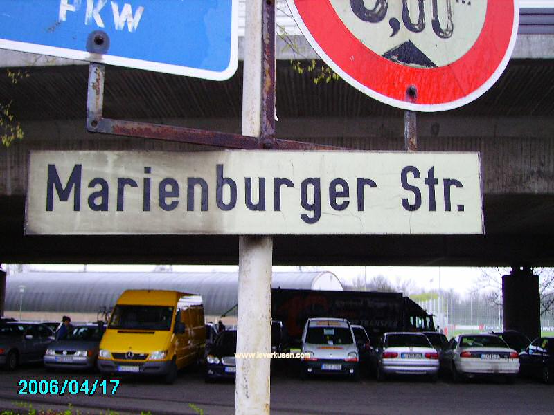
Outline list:
[[[24,194],[31,149],[155,149],[195,145],[84,131],[86,66],[22,68],[0,79],[25,138],[0,148],[2,262],[234,264],[238,237],[26,237]],[[418,116],[421,151],[480,151],[482,236],[276,237],[274,264],[554,266],[554,60],[515,59],[483,97],[461,109]],[[208,82],[107,68],[105,116],[240,132],[242,68]],[[278,138],[351,149],[403,150],[402,111],[341,81],[315,85],[278,62]],[[386,220],[384,218],[383,220]]]

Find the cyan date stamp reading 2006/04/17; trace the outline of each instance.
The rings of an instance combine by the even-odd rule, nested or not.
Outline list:
[[[112,394],[114,395],[119,387],[119,380],[25,380],[17,383],[19,395],[60,395],[63,394]]]

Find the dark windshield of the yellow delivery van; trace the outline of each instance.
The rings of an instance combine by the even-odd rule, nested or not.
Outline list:
[[[116,306],[109,329],[169,330],[173,307],[168,306]]]

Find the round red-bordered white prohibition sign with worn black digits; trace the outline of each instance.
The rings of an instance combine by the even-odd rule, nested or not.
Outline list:
[[[518,0],[287,0],[296,24],[343,80],[411,111],[461,107],[510,60]]]

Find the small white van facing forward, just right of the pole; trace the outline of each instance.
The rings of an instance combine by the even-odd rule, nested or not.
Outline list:
[[[359,356],[348,320],[310,318],[302,333],[301,377],[343,374],[358,378]]]

